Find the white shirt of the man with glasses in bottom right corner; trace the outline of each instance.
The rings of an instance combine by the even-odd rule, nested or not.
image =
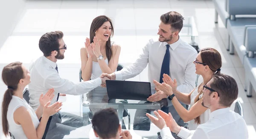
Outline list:
[[[163,139],[174,139],[169,128],[161,130]],[[182,139],[248,139],[246,123],[238,113],[222,108],[210,113],[208,122],[196,130],[181,128],[177,134]]]

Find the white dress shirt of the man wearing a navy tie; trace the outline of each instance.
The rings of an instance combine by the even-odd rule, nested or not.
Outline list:
[[[153,79],[160,80],[163,57],[166,53],[166,42],[160,42],[158,38],[150,39],[143,48],[142,54],[133,64],[116,71],[116,80],[124,80],[137,76],[148,65],[148,80],[151,83],[151,92],[154,94],[155,85]],[[197,51],[188,43],[179,39],[170,44],[170,77],[177,79],[177,90],[190,93],[195,88],[195,65],[193,61]],[[171,104],[171,102],[168,102]]]

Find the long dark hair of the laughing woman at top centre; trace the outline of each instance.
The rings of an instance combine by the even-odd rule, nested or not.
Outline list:
[[[114,34],[114,28],[111,19],[106,17],[105,15],[100,15],[93,19],[93,22],[90,26],[90,43],[93,43],[93,38],[95,37],[95,31],[98,30],[105,22],[110,22],[111,24],[111,37],[113,37]],[[111,41],[110,38],[108,38],[108,41],[106,43],[106,55],[108,58],[108,62],[112,57],[112,51],[111,51]]]

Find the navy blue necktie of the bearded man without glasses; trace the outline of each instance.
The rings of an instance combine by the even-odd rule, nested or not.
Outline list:
[[[162,63],[162,68],[161,68],[161,73],[160,73],[160,80],[159,82],[163,82],[163,74],[170,74],[170,51],[169,51],[170,45],[166,45],[166,54],[163,57],[163,63]],[[161,108],[162,111],[165,113],[169,112],[169,108],[166,106],[163,106]]]

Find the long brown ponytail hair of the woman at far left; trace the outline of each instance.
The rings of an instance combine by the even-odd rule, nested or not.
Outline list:
[[[9,124],[7,121],[8,106],[12,100],[13,92],[18,88],[20,79],[24,78],[24,73],[21,65],[22,65],[21,62],[10,63],[9,65],[6,65],[3,68],[3,72],[2,72],[3,82],[8,87],[8,89],[4,93],[3,102],[2,102],[2,125],[3,125],[3,134],[5,136],[9,134]]]

